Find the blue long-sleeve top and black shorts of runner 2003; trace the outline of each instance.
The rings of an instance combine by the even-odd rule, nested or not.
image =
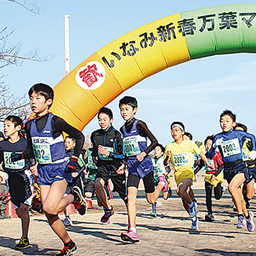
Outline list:
[[[220,154],[224,162],[224,179],[228,183],[234,178],[238,173],[244,173],[245,184],[250,182],[249,172],[243,161],[242,147],[243,139],[249,138],[252,142],[252,150],[256,149],[255,137],[252,134],[248,134],[241,130],[231,129],[230,131],[222,131],[214,136],[212,145],[214,145],[217,139],[223,138],[224,143],[218,146]],[[212,158],[216,148],[211,147],[208,157]]]

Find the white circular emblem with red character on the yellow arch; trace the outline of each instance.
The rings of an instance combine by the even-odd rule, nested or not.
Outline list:
[[[98,61],[88,62],[79,68],[75,75],[75,81],[86,90],[95,90],[105,81],[106,71]]]

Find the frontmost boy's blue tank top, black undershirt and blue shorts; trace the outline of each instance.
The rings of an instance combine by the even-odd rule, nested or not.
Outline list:
[[[51,185],[64,179],[72,182],[71,174],[65,172],[67,163],[63,132],[76,139],[73,153],[76,157],[79,157],[84,143],[82,132],[52,113],[29,120],[25,131],[28,145],[22,154],[24,158],[35,156],[38,162],[38,184]]]

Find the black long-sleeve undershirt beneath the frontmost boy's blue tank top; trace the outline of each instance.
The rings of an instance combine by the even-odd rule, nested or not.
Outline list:
[[[36,127],[39,131],[43,130],[43,128],[45,127],[48,116],[49,116],[49,113],[36,118]],[[33,152],[33,147],[32,147],[32,139],[30,136],[30,127],[31,127],[31,120],[26,122],[26,125],[25,125],[25,132],[27,135],[28,145],[27,145],[26,150],[23,152],[24,158],[34,157],[34,152]],[[58,136],[63,134],[63,132],[65,132],[66,134],[68,134],[76,139],[73,155],[78,157],[81,152],[81,149],[83,147],[83,144],[84,144],[84,135],[82,134],[82,132],[77,130],[73,126],[67,124],[66,121],[64,121],[62,118],[60,118],[58,116],[53,116],[52,129],[53,129],[53,137],[54,138],[57,138]]]

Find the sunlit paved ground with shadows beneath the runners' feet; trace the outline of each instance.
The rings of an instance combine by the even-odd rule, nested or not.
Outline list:
[[[201,193],[200,193],[201,191]],[[78,246],[76,255],[253,255],[256,256],[255,232],[237,229],[237,216],[232,211],[228,194],[213,200],[215,221],[204,221],[206,207],[204,191],[197,191],[199,201],[199,230],[191,231],[191,221],[183,210],[181,200],[172,196],[158,200],[157,218],[149,216],[150,205],[144,198],[137,201],[137,231],[140,242],[130,244],[120,238],[127,227],[127,214],[120,199],[111,201],[115,214],[110,225],[102,225],[102,209],[89,210],[84,216],[71,215],[74,226],[68,231]],[[96,204],[95,201],[93,201]],[[251,210],[256,212],[256,200]],[[63,214],[60,215],[63,219]],[[256,220],[255,220],[256,221]],[[29,238],[33,245],[23,252],[13,250],[21,236],[20,220],[0,220],[0,255],[55,255],[62,249],[60,239],[53,233],[43,215],[31,217]]]

